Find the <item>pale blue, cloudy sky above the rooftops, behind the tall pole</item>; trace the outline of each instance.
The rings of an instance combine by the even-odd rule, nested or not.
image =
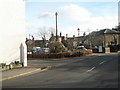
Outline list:
[[[58,32],[69,37],[84,32],[114,28],[118,25],[117,2],[26,2],[26,36],[40,39],[41,31],[55,32],[55,12],[58,12]],[[49,35],[48,35],[49,37]],[[47,37],[47,38],[48,38]]]

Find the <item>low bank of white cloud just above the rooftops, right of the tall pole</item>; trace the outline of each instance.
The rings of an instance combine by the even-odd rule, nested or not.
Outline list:
[[[78,35],[77,28],[80,28],[80,35],[82,36],[84,32],[86,34],[101,30],[105,28],[112,29],[117,25],[118,17],[117,16],[99,16],[99,17],[91,17],[89,23],[82,23],[82,24],[76,24],[71,25],[68,27],[60,27],[59,30],[61,30],[63,35],[68,34],[69,37],[72,37],[73,35]]]

